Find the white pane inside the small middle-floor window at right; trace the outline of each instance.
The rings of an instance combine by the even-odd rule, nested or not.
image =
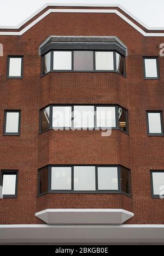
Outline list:
[[[149,133],[161,133],[161,114],[148,113]]]

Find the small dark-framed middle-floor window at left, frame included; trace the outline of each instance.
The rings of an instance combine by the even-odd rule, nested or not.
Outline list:
[[[20,110],[5,110],[4,135],[20,134]]]

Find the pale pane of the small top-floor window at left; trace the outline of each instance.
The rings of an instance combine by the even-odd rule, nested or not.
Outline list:
[[[9,58],[9,77],[21,77],[22,58]]]

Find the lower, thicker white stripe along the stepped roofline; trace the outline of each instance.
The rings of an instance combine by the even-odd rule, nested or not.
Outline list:
[[[55,6],[56,6],[56,4],[55,4]],[[65,4],[65,6],[66,6],[66,4]],[[36,20],[31,22],[31,24],[27,25],[20,32],[14,32],[14,31],[12,31],[12,32],[5,32],[5,31],[3,31],[3,32],[0,32],[0,35],[1,36],[21,36],[22,34],[24,34],[26,31],[30,30],[31,27],[36,25],[40,20],[45,18],[50,13],[115,13],[116,15],[118,15],[120,18],[125,20],[128,24],[130,24],[133,28],[135,28],[139,33],[141,33],[145,37],[164,37],[164,33],[147,33],[147,32],[144,32],[140,27],[138,27],[136,24],[134,24],[130,19],[128,19],[123,14],[121,14],[120,11],[115,10],[115,9],[110,9],[110,10],[109,9],[49,9],[49,10],[45,11],[44,14],[40,15]],[[29,18],[28,18],[28,20],[29,20]],[[4,27],[0,27],[0,29],[1,28],[4,28]],[[155,28],[154,28],[154,30],[155,30]],[[163,28],[163,30],[164,30],[164,28]]]

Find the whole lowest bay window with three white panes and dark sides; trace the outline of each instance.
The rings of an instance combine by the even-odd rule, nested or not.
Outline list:
[[[39,195],[44,193],[131,194],[131,174],[124,166],[64,165],[39,170]]]

